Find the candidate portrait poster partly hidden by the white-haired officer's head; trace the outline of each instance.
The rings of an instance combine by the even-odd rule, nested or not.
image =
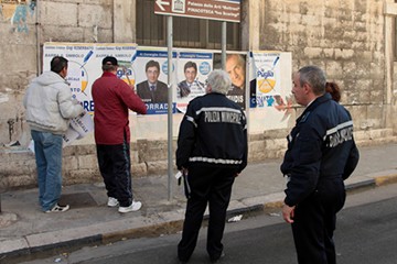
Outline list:
[[[184,113],[192,99],[205,95],[205,81],[212,69],[213,53],[178,52],[174,101],[179,112]]]

